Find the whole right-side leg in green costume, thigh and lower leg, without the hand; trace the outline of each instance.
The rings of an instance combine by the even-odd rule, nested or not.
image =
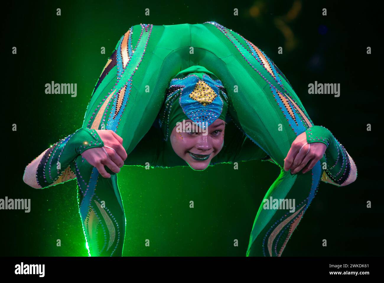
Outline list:
[[[322,174],[320,161],[306,174],[292,175],[283,169],[292,142],[313,123],[284,75],[255,45],[215,22],[195,30],[195,44],[199,44],[198,37],[211,34],[212,40],[204,41],[204,56],[199,61],[227,89],[233,121],[280,166],[280,176],[265,199],[295,201],[294,211],[264,209],[262,204],[253,224],[247,256],[280,256],[310,205]]]

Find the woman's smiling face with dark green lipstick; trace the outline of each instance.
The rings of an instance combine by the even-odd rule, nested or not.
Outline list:
[[[192,120],[185,120],[185,123]],[[196,126],[197,127],[197,126]],[[224,145],[225,122],[216,119],[209,125],[204,133],[199,127],[198,132],[182,131],[177,132],[175,126],[170,135],[170,143],[175,153],[185,160],[195,170],[204,170]]]

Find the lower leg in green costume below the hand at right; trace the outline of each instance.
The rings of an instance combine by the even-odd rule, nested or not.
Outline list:
[[[317,192],[321,172],[319,162],[313,167],[312,174],[292,175],[289,171],[281,171],[265,194],[264,199],[268,200],[268,205],[263,202],[258,209],[247,256],[281,256]],[[294,204],[294,209],[291,210],[287,206],[286,209],[272,208],[270,198],[288,200]]]

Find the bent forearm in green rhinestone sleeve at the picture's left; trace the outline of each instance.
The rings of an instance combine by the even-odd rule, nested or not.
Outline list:
[[[33,188],[46,188],[63,183],[75,176],[71,162],[83,151],[104,146],[97,132],[80,128],[42,152],[25,168],[23,180]]]

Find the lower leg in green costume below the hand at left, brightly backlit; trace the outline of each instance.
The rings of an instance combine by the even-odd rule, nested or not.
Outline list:
[[[76,158],[74,167],[89,256],[122,256],[126,220],[117,175],[103,178],[82,156]]]

